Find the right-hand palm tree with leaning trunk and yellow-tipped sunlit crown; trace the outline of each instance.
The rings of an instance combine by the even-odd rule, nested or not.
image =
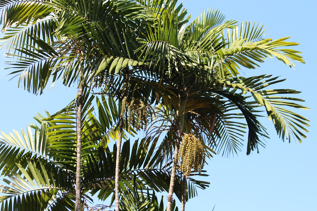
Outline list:
[[[145,44],[138,49],[139,59],[157,75],[149,86],[165,99],[161,103],[168,115],[175,114],[172,128],[177,135],[167,210],[173,201],[173,177],[182,135],[194,133],[201,141],[209,140],[204,143],[205,150],[213,152],[210,147],[217,144],[216,150],[228,155],[240,150],[241,133],[248,126],[249,154],[251,150],[258,150],[259,144],[263,145],[260,137],[267,137],[256,115],[258,107],[264,106],[283,140],[294,136],[301,141],[300,137],[305,137],[302,131],[307,131],[303,126],[308,126],[306,118],[277,106],[306,109],[292,102],[301,99],[282,96],[298,92],[264,90],[282,80],[265,75],[236,77],[241,67],[255,68],[267,56],[275,56],[290,67],[294,66],[292,61],[303,62],[300,52],[284,48],[298,43],[285,41],[288,37],[264,39],[262,25],[242,23],[238,27],[234,20],[224,21],[225,17],[218,10],[205,10],[186,26],[189,20],[184,18],[186,11],[181,9],[182,5],[176,7],[173,3],[160,10],[154,24],[146,26],[146,34],[141,37]],[[224,35],[225,29],[228,36]],[[278,96],[271,96],[273,94]],[[249,101],[250,97],[253,100]],[[233,113],[235,110],[241,114]],[[247,124],[230,120],[241,116]]]

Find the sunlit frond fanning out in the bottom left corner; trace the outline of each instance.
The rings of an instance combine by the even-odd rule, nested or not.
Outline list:
[[[3,179],[8,186],[0,187],[5,194],[0,196],[2,210],[44,210],[58,195],[74,192],[70,172],[40,158],[27,163],[26,168],[16,164],[19,173],[11,171],[8,179]]]

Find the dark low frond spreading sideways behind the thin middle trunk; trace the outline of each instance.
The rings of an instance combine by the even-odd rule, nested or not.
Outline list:
[[[124,142],[120,157],[120,191],[124,192],[128,189],[150,188],[157,192],[166,191],[169,188],[170,181],[170,166],[161,165],[164,159],[161,159],[161,151],[155,151],[157,143],[150,144],[151,138],[139,142],[136,140],[130,149],[129,141]],[[128,152],[131,151],[131,154]],[[99,149],[97,157],[90,157],[87,161],[87,167],[84,167],[84,189],[91,189],[92,194],[98,192],[98,198],[105,200],[113,194],[114,189],[114,170],[115,170],[115,155],[116,145],[113,147],[113,152],[109,148],[106,151]],[[181,177],[177,176],[177,180],[181,181]],[[208,182],[195,182],[190,180],[189,189],[196,188],[205,189],[208,187]],[[176,187],[176,195],[181,200],[181,186]]]

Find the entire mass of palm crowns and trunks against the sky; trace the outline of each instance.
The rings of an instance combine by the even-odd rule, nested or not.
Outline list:
[[[105,200],[113,192],[117,209],[164,210],[155,194],[162,191],[169,192],[167,210],[177,209],[174,193],[184,210],[208,183],[194,179],[201,169],[178,166],[186,163],[178,160],[183,137],[201,144],[188,148],[208,158],[234,155],[243,145],[249,155],[268,137],[261,111],[282,140],[306,137],[308,120],[293,108],[307,108],[289,96],[299,92],[268,89],[283,82],[278,77],[239,74],[266,57],[290,67],[304,62],[288,48],[298,43],[265,38],[261,24],[238,25],[216,9],[190,22],[176,0],[12,0],[0,7],[18,83],[33,94],[50,80],[79,88],[68,106],[37,115],[22,135],[0,136],[3,210],[72,210],[76,198],[83,206],[88,193]],[[149,107],[137,110],[141,104]],[[146,137],[131,140],[140,128]],[[118,141],[112,151],[110,140]]]

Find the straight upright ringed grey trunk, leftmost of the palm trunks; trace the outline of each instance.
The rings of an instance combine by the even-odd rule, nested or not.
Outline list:
[[[75,211],[81,211],[81,109],[82,109],[82,85],[78,88],[77,97],[77,164],[76,164],[76,203]]]

